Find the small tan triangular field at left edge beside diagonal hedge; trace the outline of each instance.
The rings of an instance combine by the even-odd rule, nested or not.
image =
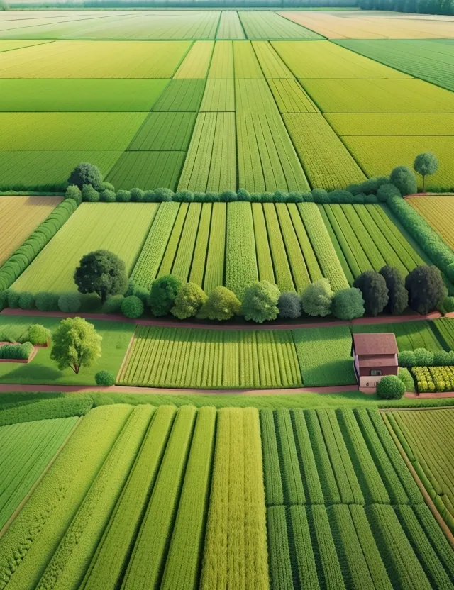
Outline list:
[[[60,196],[0,196],[0,265],[61,201]]]

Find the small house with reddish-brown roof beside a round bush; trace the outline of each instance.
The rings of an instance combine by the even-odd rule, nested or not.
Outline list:
[[[352,357],[360,390],[371,391],[385,375],[399,373],[394,333],[353,334]]]

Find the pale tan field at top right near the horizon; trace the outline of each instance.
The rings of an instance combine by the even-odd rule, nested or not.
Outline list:
[[[437,16],[436,20],[432,20],[427,15],[375,11],[301,11],[279,14],[328,39],[454,38],[454,19],[450,16]]]

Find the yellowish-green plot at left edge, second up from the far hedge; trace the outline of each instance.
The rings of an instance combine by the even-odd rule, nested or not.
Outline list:
[[[0,152],[128,147],[146,113],[0,113]],[[90,160],[89,160],[90,161]]]

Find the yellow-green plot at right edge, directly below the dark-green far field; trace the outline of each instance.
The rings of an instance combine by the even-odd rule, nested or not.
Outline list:
[[[323,113],[452,113],[454,93],[423,80],[301,79]]]

